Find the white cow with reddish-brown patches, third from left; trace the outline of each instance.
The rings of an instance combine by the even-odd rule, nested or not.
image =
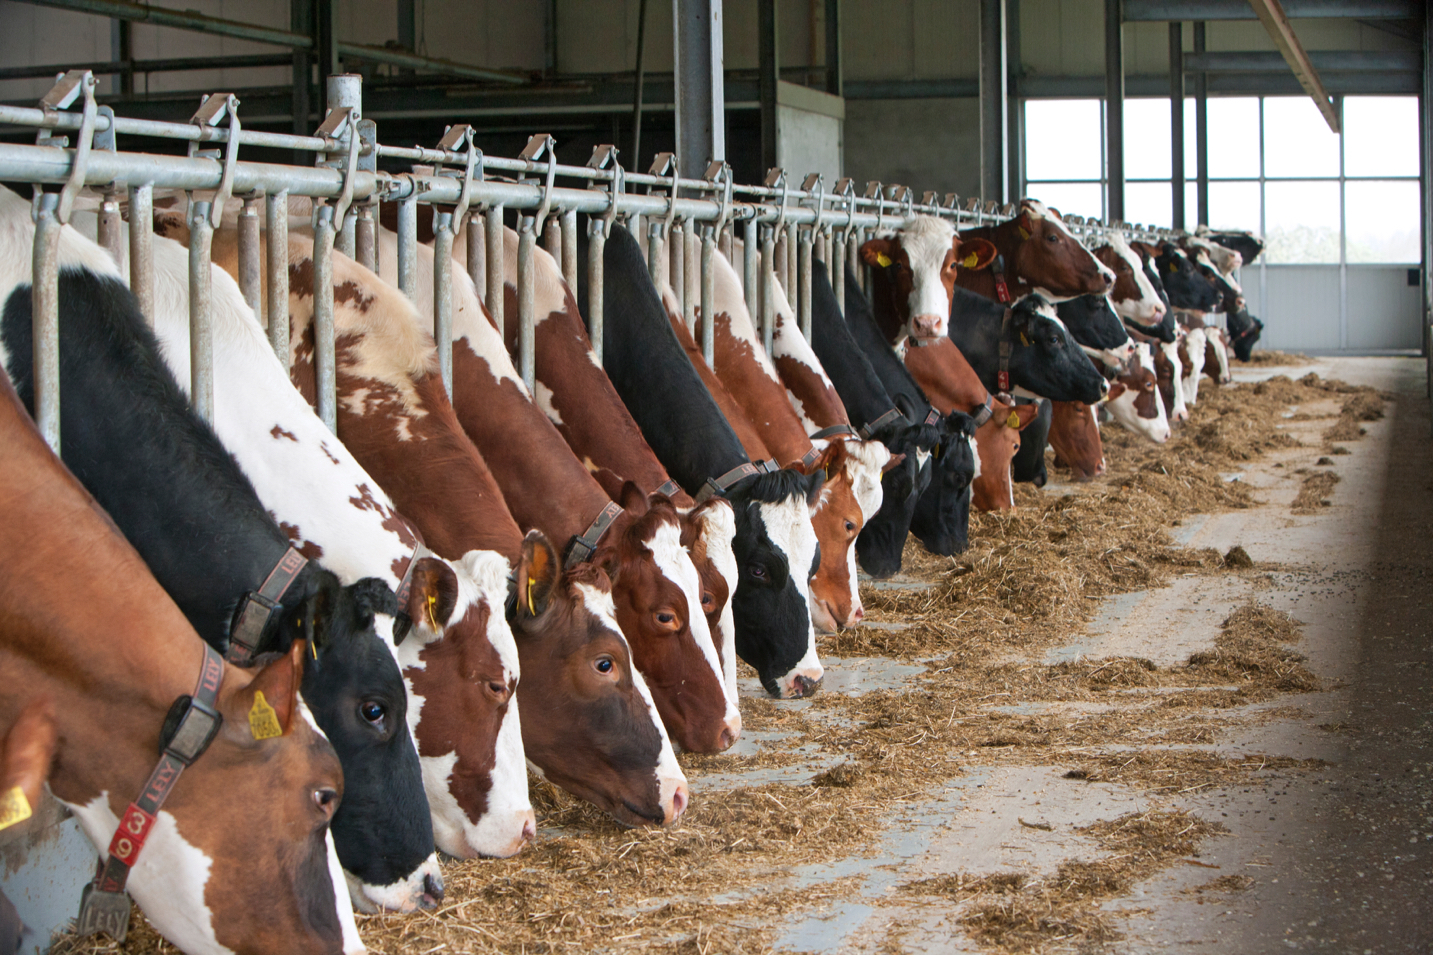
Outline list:
[[[156,217],[156,229],[188,238],[182,222],[168,217]],[[181,387],[188,389],[188,252],[163,235],[155,237],[153,248],[155,331],[169,370]],[[390,652],[401,671],[427,670],[428,694],[441,693],[453,705],[470,707],[470,716],[473,708],[486,713],[486,718],[474,720],[471,726],[446,724],[436,718],[436,710],[424,707],[426,698],[414,691],[411,678],[406,681],[408,727],[420,761],[427,767],[433,759],[457,759],[464,770],[474,767],[474,776],[460,793],[461,802],[450,789],[450,776],[424,771],[434,840],[444,852],[460,857],[512,855],[532,839],[535,830],[523,753],[516,746],[522,736],[516,708],[493,698],[487,690],[489,680],[473,681],[469,674],[451,667],[427,668],[424,662],[427,657],[456,647],[477,651],[487,642],[490,650],[481,650],[481,655],[490,660],[489,654],[496,654],[502,667],[484,675],[493,677],[492,683],[516,680],[519,661],[516,647],[507,640],[510,632],[494,632],[481,621],[483,605],[503,605],[506,582],[493,581],[486,571],[474,576],[487,562],[480,553],[466,555],[470,556],[466,561],[420,555],[413,526],[295,390],[234,278],[219,267],[236,265],[231,231],[222,229],[215,235],[214,251],[218,260],[211,287],[216,341],[215,430],[244,467],[265,508],[278,518],[291,543],[314,559],[322,558],[340,579],[378,576],[401,592],[408,569],[444,565],[438,576],[460,595],[449,619],[438,621],[428,612],[427,598],[436,598],[436,592],[410,586],[407,601],[400,601],[403,615],[417,621],[407,640],[396,640],[403,625],[394,619],[383,622],[385,618],[380,617],[383,625],[378,632],[390,642]],[[304,480],[295,480],[295,475],[302,475]],[[426,579],[437,582],[434,576]],[[396,625],[398,629],[394,629]],[[494,638],[497,642],[493,642]],[[444,684],[441,688],[434,685],[438,680]],[[496,734],[492,731],[494,723],[502,727]],[[434,754],[436,746],[446,749]],[[490,784],[481,792],[484,776]],[[481,799],[470,799],[477,796]],[[373,911],[387,903],[384,893],[377,888],[364,888],[358,879],[351,880],[350,888],[360,895],[355,905],[361,909]]]

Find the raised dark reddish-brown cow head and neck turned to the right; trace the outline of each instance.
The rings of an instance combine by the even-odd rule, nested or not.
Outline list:
[[[986,239],[995,255],[980,255],[956,274],[956,284],[969,291],[1012,303],[1040,293],[1058,303],[1075,295],[1103,295],[1115,274],[1075,238],[1059,212],[1036,199],[1022,199],[1013,219],[960,232],[962,244]]]

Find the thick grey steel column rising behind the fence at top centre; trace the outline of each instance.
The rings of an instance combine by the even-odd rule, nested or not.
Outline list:
[[[676,163],[705,169],[727,158],[722,0],[672,0]]]

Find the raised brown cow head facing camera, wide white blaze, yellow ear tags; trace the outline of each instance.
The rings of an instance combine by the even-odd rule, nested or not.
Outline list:
[[[880,303],[877,320],[898,327],[894,341],[907,336],[931,341],[946,334],[956,270],[987,267],[995,245],[979,238],[962,241],[950,222],[916,215],[900,232],[863,244],[861,260],[876,277],[871,297]]]

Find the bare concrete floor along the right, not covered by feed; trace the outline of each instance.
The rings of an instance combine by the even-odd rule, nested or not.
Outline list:
[[[1218,820],[1192,865],[1174,865],[1112,903],[1125,941],[1106,951],[1433,952],[1433,427],[1417,358],[1331,358],[1311,369],[1244,370],[1241,379],[1314,370],[1396,393],[1381,422],[1334,457],[1331,506],[1288,509],[1295,469],[1314,465],[1328,422],[1290,422],[1311,447],[1271,455],[1237,479],[1264,505],[1185,521],[1178,538],[1221,552],[1238,543],[1278,569],[1188,576],[1106,601],[1086,632],[1048,661],[1115,654],[1168,665],[1214,644],[1219,622],[1251,594],[1304,622],[1298,650],[1321,693],[1240,711],[1208,749],[1222,754],[1324,760],[1273,784],[1199,790],[1175,807]],[[1281,465],[1281,466],[1280,466]],[[791,770],[787,770],[788,773]],[[800,773],[800,770],[797,770]],[[778,948],[860,952],[979,951],[959,912],[893,903],[893,886],[949,872],[1053,870],[1089,855],[1072,832],[1142,810],[1116,784],[1072,786],[1063,767],[972,769],[933,802],[893,822],[874,856],[797,872],[800,882],[864,876],[851,898],[792,919]],[[1169,800],[1161,804],[1169,806]],[[1022,820],[1049,825],[1032,829]],[[1240,892],[1192,892],[1224,875]]]

